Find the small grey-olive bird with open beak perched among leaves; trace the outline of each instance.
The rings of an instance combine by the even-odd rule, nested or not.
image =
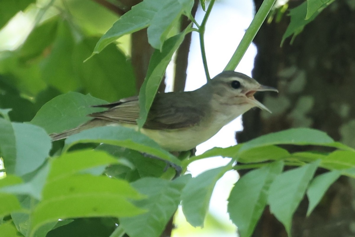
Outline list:
[[[168,151],[191,150],[253,107],[271,113],[254,98],[257,91],[278,92],[240,72],[224,71],[195,91],[158,93],[140,132]],[[121,125],[138,129],[138,97],[95,107],[108,110],[89,114],[92,120],[77,128],[51,134],[51,138],[64,139],[97,126]]]

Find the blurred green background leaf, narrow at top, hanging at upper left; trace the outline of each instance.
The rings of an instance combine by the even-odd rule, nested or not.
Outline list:
[[[73,47],[74,38],[69,23],[59,22],[53,47],[40,68],[47,84],[64,93],[75,91],[80,86],[73,68]]]

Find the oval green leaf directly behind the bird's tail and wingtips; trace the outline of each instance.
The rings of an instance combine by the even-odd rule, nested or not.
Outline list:
[[[41,126],[47,133],[58,133],[89,121],[87,115],[102,111],[91,106],[107,103],[91,95],[68,92],[51,99],[37,112],[31,123]]]

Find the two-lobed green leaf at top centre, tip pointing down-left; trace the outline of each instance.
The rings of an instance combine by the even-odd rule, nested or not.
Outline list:
[[[148,40],[156,49],[161,49],[169,30],[183,12],[190,12],[191,0],[144,0],[133,6],[97,42],[94,54],[101,52],[116,39],[149,26]],[[163,18],[162,20],[162,17]],[[154,34],[155,33],[155,34]]]

